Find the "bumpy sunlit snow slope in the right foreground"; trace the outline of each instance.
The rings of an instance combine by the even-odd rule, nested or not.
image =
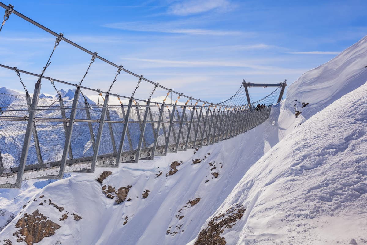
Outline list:
[[[247,171],[208,219],[246,209],[221,234],[228,244],[367,242],[366,90],[333,102]]]

